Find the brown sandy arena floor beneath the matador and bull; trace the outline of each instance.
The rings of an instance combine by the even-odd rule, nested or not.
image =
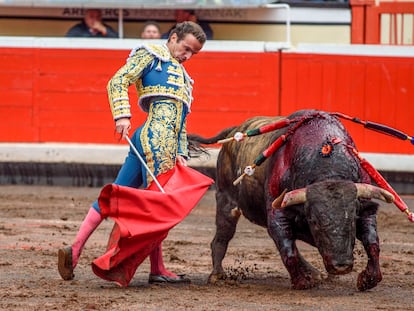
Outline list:
[[[210,190],[164,242],[169,269],[190,285],[149,285],[144,263],[128,288],[96,277],[91,261],[102,254],[112,228],[104,222],[85,246],[73,281],[57,272],[57,250],[72,242],[100,188],[0,186],[1,310],[413,310],[414,224],[394,205],[379,212],[383,281],[359,292],[357,274],[366,264],[358,243],[354,271],[327,278],[318,288],[290,289],[290,281],[266,230],[241,219],[224,266],[233,280],[207,284],[215,200]],[[403,199],[414,210],[414,196]],[[304,257],[323,270],[314,248]]]

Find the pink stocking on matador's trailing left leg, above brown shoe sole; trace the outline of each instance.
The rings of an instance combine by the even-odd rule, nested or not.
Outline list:
[[[78,264],[78,260],[82,249],[89,239],[92,232],[99,226],[102,222],[102,216],[98,213],[93,207],[91,207],[86,215],[85,219],[83,220],[78,234],[76,235],[75,242],[72,244],[72,266],[73,268],[76,267]]]

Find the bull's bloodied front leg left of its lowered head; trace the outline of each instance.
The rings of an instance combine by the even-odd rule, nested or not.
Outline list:
[[[321,274],[299,253],[291,222],[283,211],[269,213],[268,232],[279,250],[280,257],[289,272],[293,289],[309,289],[321,280]]]

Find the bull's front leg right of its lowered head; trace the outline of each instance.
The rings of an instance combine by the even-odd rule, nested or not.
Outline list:
[[[358,290],[365,291],[374,288],[382,280],[376,214],[362,215],[359,218],[357,222],[357,238],[361,240],[368,256],[367,266],[358,275],[357,281]]]

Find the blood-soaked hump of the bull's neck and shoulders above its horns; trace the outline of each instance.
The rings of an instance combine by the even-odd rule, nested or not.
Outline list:
[[[324,112],[299,111],[289,116],[312,116],[298,126],[285,144],[268,160],[270,193],[278,196],[318,181],[335,179],[367,182],[349,147],[355,147],[343,124]],[[280,133],[279,133],[280,134]]]

